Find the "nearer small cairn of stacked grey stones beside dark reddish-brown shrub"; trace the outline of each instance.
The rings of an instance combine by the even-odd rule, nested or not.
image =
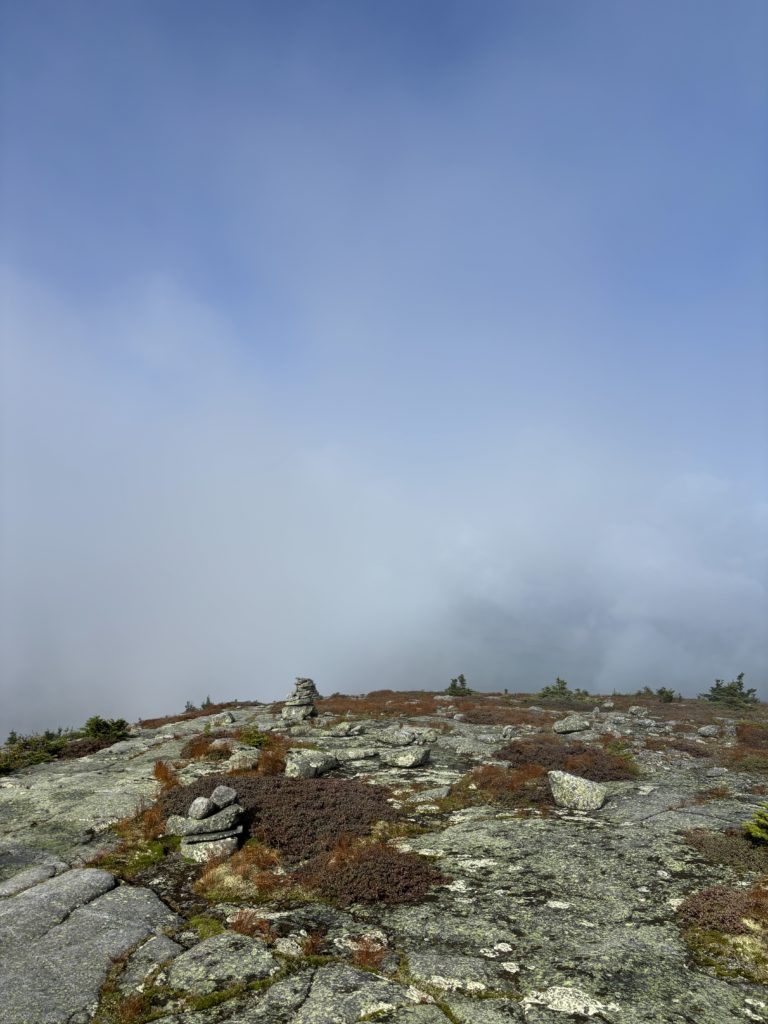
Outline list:
[[[243,833],[243,808],[230,785],[217,785],[210,797],[198,797],[184,817],[171,814],[166,823],[169,836],[181,837],[181,856],[204,863],[211,857],[227,857],[238,849]]]

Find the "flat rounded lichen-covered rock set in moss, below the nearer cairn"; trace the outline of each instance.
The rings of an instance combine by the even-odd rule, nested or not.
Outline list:
[[[232,985],[269,978],[279,962],[261,939],[221,932],[177,956],[166,971],[167,983],[190,995],[208,995]]]

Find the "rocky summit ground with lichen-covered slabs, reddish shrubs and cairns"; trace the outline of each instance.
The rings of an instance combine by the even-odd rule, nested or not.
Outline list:
[[[768,1021],[765,706],[310,683],[0,777],[2,1024]]]

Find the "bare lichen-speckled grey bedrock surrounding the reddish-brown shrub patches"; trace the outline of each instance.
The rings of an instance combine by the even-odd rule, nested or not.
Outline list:
[[[177,853],[134,884],[82,866],[114,844],[110,822],[142,798],[154,799],[155,762],[176,761],[205,720],[138,730],[98,754],[0,779],[2,1024],[87,1024],[121,956],[114,984],[125,996],[142,987],[155,992],[164,1024],[768,1020],[763,986],[697,966],[676,921],[676,907],[691,893],[760,877],[759,860],[744,870],[711,863],[681,835],[738,827],[766,799],[754,792],[765,775],[714,764],[733,742],[727,719],[709,723],[717,733],[700,718],[679,730],[703,744],[697,753],[710,755],[693,758],[646,749],[646,736],[670,736],[653,708],[632,714],[605,708],[589,716],[589,730],[571,730],[584,723],[569,723],[560,740],[553,726],[561,711],[544,709],[530,716],[537,724],[521,725],[444,724],[437,714],[328,723],[318,703],[314,725],[291,727],[304,730],[298,734],[316,750],[297,751],[289,764],[301,765],[301,774],[306,765],[309,775],[322,765],[324,778],[281,784],[287,792],[317,786],[318,799],[344,780],[388,785],[388,812],[404,805],[411,826],[391,844],[428,858],[446,881],[416,904],[262,899],[253,906],[260,924],[247,935],[231,927],[237,906],[213,903],[208,920],[223,931],[202,938],[158,895],[173,901],[174,872],[202,870],[184,867]],[[492,698],[487,707],[496,707]],[[232,717],[231,731],[285,727],[268,707],[238,708]],[[685,722],[685,706],[675,717]],[[588,750],[606,733],[623,737],[640,774],[598,784],[554,770],[553,791],[561,784],[563,806],[544,815],[521,816],[482,800],[441,803],[461,792],[456,783],[472,767],[510,770],[495,757],[510,742],[532,736],[572,743],[574,731]],[[227,779],[242,799],[245,776],[225,772],[221,761],[180,768],[185,782],[216,776],[196,809],[202,817],[189,819],[193,838],[200,824],[191,822],[227,825],[238,813],[231,794],[205,803]],[[563,774],[565,780],[557,778]],[[202,788],[196,783],[184,815]],[[224,805],[233,808],[228,816]],[[289,869],[295,862],[287,859]],[[312,936],[323,958],[306,957]],[[216,1006],[195,1001],[217,993]]]

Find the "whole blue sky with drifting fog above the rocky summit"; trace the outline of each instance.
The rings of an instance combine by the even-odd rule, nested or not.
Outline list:
[[[762,2],[4,2],[2,685],[768,671]]]

